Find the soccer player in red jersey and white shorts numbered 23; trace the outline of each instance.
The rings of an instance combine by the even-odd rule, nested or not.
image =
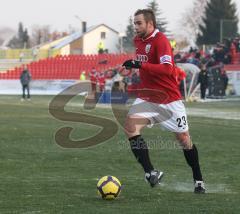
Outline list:
[[[194,192],[205,193],[198,161],[197,147],[192,144],[185,107],[177,82],[172,49],[166,36],[156,29],[152,10],[142,9],[134,14],[136,59],[123,63],[126,69],[139,69],[141,90],[131,106],[125,132],[131,150],[145,171],[145,179],[151,187],[160,183],[163,172],[154,169],[148,147],[141,131],[144,127],[159,123],[173,132],[183,147],[183,153],[193,172]]]

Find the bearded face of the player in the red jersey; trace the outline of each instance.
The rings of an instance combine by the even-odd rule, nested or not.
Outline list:
[[[135,31],[138,37],[145,38],[152,32],[152,25],[146,22],[143,14],[134,17]]]

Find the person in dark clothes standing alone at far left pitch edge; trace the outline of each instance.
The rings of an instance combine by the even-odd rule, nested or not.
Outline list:
[[[22,99],[21,99],[21,101],[24,101],[26,98],[25,90],[27,90],[27,99],[30,100],[30,88],[29,88],[30,81],[31,81],[31,74],[30,74],[27,66],[24,65],[24,69],[20,76],[20,82],[22,84]]]

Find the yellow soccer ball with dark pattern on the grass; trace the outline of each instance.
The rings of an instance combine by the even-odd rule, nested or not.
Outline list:
[[[98,194],[107,200],[115,199],[121,191],[121,183],[114,176],[104,176],[97,183]]]

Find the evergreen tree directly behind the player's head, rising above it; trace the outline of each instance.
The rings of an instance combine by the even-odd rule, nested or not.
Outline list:
[[[167,32],[167,21],[165,18],[162,18],[162,12],[159,9],[159,5],[157,3],[156,0],[151,1],[148,5],[147,5],[148,9],[151,9],[155,16],[156,16],[156,22],[157,22],[157,29],[159,29],[161,32],[166,33]]]

